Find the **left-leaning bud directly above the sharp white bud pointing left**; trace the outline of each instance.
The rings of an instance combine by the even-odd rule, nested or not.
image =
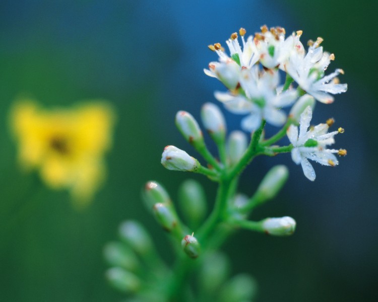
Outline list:
[[[204,136],[192,114],[186,111],[178,111],[176,114],[176,126],[182,136],[194,147],[199,148],[204,146]]]

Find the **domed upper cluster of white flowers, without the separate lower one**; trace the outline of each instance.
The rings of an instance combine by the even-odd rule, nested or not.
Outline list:
[[[342,69],[325,75],[334,54],[323,51],[323,39],[308,42],[304,50],[297,31],[285,39],[285,29],[281,27],[261,28],[260,33],[244,39],[246,31],[241,28],[242,47],[237,33],[226,41],[230,51],[228,56],[220,43],[209,48],[219,56],[218,62],[210,62],[204,69],[210,77],[219,79],[229,91],[215,92],[215,97],[225,107],[236,114],[249,114],[242,120],[245,131],[256,130],[263,119],[268,123],[281,126],[287,117],[281,110],[293,105],[299,96],[309,94],[322,103],[332,103],[331,94],[343,93],[346,84],[339,84],[336,78]],[[280,86],[279,70],[286,72],[286,82]],[[297,89],[292,82],[295,81]]]

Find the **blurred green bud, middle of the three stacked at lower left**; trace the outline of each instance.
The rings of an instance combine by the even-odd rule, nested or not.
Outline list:
[[[139,265],[133,251],[121,242],[109,242],[106,244],[104,257],[111,266],[119,266],[127,270],[135,270]]]

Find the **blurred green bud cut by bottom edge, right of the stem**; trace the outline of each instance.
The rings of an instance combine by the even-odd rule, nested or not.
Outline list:
[[[257,284],[247,274],[239,274],[225,283],[220,291],[221,302],[250,301],[256,296]]]

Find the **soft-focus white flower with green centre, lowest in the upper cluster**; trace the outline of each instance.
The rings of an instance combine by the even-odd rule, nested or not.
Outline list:
[[[243,95],[215,92],[215,98],[236,114],[247,114],[242,119],[241,127],[245,131],[256,130],[263,119],[274,126],[281,126],[286,121],[286,114],[281,111],[294,103],[297,93],[294,90],[277,92],[279,74],[277,70],[263,71],[258,66],[241,71],[240,85]]]

